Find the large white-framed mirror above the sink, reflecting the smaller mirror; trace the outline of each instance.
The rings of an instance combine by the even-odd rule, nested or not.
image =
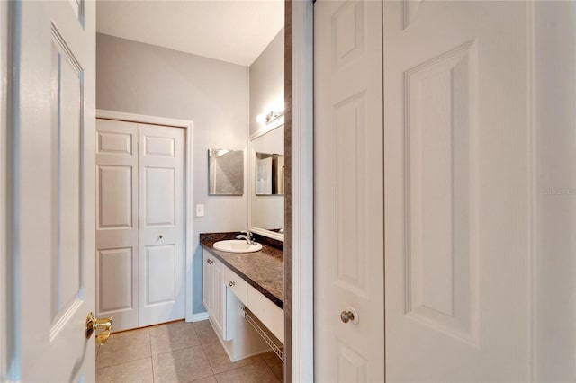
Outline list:
[[[284,241],[284,119],[248,139],[248,227]]]

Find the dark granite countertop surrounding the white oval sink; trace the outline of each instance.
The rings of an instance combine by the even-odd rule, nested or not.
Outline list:
[[[237,235],[238,233],[201,234],[200,245],[284,310],[283,250],[275,247],[277,244],[272,242],[274,240],[260,236],[256,238],[257,242],[262,244],[259,252],[228,253],[214,249],[215,242],[234,239]]]

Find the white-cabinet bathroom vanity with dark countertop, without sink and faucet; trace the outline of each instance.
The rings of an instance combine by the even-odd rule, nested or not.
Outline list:
[[[273,245],[253,253],[214,248],[238,233],[201,234],[202,303],[231,361],[272,348],[284,360],[284,254]]]

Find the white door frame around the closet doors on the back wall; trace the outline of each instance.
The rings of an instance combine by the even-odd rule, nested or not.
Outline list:
[[[120,120],[141,124],[164,125],[185,129],[184,142],[184,259],[185,259],[185,294],[184,313],[186,322],[193,322],[193,121],[176,120],[167,117],[147,116],[144,114],[125,113],[123,111],[106,111],[96,109],[96,119]],[[96,282],[97,283],[97,282]]]

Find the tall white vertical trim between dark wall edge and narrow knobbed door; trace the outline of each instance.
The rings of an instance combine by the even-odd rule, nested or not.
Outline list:
[[[292,2],[293,381],[314,380],[314,147],[312,0]]]

